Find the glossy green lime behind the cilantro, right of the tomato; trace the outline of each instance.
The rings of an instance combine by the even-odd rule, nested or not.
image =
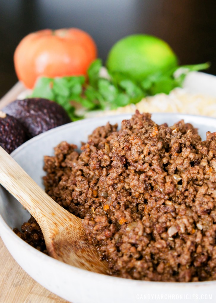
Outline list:
[[[165,72],[177,64],[177,56],[166,42],[143,34],[130,35],[116,42],[106,62],[110,72],[128,74],[137,81],[155,72]]]

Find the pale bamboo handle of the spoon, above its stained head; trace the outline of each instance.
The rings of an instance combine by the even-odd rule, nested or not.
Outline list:
[[[0,184],[2,184],[40,224],[56,212],[65,210],[48,196],[21,166],[0,146]]]

